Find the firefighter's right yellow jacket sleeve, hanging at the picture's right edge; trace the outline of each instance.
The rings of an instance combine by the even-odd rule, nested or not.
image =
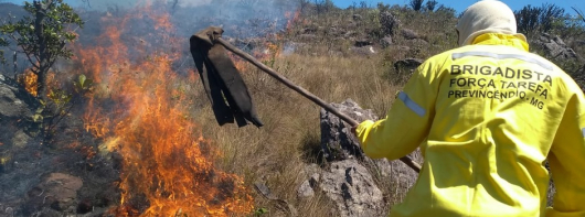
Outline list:
[[[577,90],[568,100],[547,158],[556,194],[546,216],[585,216],[585,98]]]

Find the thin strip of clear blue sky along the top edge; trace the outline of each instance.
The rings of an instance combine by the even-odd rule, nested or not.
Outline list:
[[[0,0],[0,2],[13,2],[13,3],[22,3],[23,0]],[[32,0],[29,0],[32,1]],[[77,2],[81,2],[82,0],[65,0],[65,2],[71,3],[73,6],[76,6]],[[104,1],[104,0],[89,0],[91,2],[97,2],[97,1]],[[111,0],[110,0],[111,1]],[[114,2],[124,2],[126,0],[117,0]],[[209,2],[210,0],[187,0],[187,1],[202,1],[202,2]],[[310,0],[312,1],[312,0]],[[360,2],[364,1],[368,3],[368,6],[375,7],[377,2],[383,2],[387,4],[407,4],[410,0],[332,0],[338,7],[340,8],[348,8],[349,6],[352,6],[353,2],[355,2],[358,6]],[[507,3],[512,10],[520,10],[524,6],[532,4],[540,7],[543,3],[554,3],[561,8],[564,8],[566,12],[571,14],[576,14],[571,7],[575,7],[582,11],[585,12],[585,1],[584,0],[502,0],[504,3]],[[447,7],[454,8],[457,12],[464,11],[467,7],[472,4],[474,2],[477,2],[477,0],[437,0],[438,3],[445,4]]]

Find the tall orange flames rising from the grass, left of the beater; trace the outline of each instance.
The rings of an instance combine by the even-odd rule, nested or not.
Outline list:
[[[124,18],[106,15],[102,23],[107,28],[98,36],[98,45],[75,48],[82,73],[98,84],[87,102],[85,128],[104,139],[105,150],[123,156],[121,202],[111,213],[248,214],[253,199],[242,178],[214,167],[217,150],[189,118],[181,89],[195,83],[195,77],[172,70],[177,52],[184,47],[171,36],[169,15],[151,8],[142,6]],[[141,28],[152,28],[143,37],[128,42],[128,25],[142,19],[146,24]],[[164,48],[155,50],[151,44],[164,44]]]

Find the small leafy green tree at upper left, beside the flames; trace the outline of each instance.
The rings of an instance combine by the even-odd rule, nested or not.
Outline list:
[[[71,29],[83,28],[83,21],[63,0],[24,1],[30,15],[17,23],[0,25],[0,33],[22,50],[38,76],[38,97],[46,96],[46,74],[60,57],[70,58],[73,53],[65,45],[77,36]],[[7,45],[4,41],[3,44]]]

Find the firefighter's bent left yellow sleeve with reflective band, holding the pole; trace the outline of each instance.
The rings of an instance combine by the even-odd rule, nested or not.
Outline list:
[[[400,159],[414,151],[427,138],[435,113],[439,69],[433,61],[423,63],[413,74],[382,120],[363,121],[355,130],[361,147],[373,159]]]

